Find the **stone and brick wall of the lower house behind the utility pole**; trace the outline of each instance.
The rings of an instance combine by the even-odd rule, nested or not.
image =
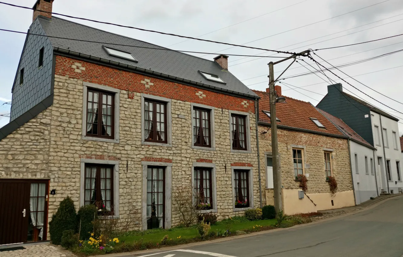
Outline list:
[[[264,167],[264,152],[272,151],[271,131],[267,127],[259,126],[259,146],[262,164],[262,174],[266,174]],[[294,164],[292,158],[292,145],[305,147],[303,149],[304,173],[310,174],[307,178],[308,190],[306,193],[330,193],[324,171],[324,148],[333,149],[332,172],[337,180],[337,192],[353,190],[351,181],[351,168],[347,139],[327,137],[311,133],[278,130],[278,149],[280,153],[281,179],[284,188],[298,188],[295,181]],[[298,148],[298,147],[297,147]],[[266,180],[266,176],[262,176]],[[265,187],[265,182],[262,182]]]

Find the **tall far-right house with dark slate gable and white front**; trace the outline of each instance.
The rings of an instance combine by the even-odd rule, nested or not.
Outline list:
[[[401,147],[398,143],[398,119],[391,114],[368,104],[364,100],[343,92],[340,83],[328,85],[328,93],[316,106],[325,112],[341,118],[365,141],[376,148],[375,170],[381,193],[400,193],[403,187],[401,177]],[[359,181],[357,180],[359,183]],[[354,185],[359,187],[360,185]]]

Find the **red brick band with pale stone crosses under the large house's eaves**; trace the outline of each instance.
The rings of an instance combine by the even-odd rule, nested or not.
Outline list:
[[[74,68],[71,68],[71,65],[76,62],[80,63],[81,66],[85,68],[85,72],[77,73]],[[125,90],[129,93],[128,97],[132,99],[135,93],[145,93],[170,99],[177,99],[184,102],[206,104],[216,108],[224,108],[226,110],[236,110],[249,113],[255,112],[253,100],[245,99],[243,97],[224,95],[222,93],[208,91],[207,89],[182,85],[180,83],[156,79],[134,72],[118,70],[116,68],[82,60],[75,60],[64,56],[56,56],[55,74],[66,76],[71,79],[81,79],[85,82]],[[154,86],[146,88],[145,85],[141,83],[144,79],[150,79],[150,81],[154,83]],[[199,91],[202,91],[206,97],[201,99],[196,95]],[[249,103],[246,107],[241,104],[244,100],[247,100]]]

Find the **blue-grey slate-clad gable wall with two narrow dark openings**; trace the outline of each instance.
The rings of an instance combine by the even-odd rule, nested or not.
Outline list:
[[[36,19],[29,33],[45,35]],[[44,62],[38,68],[39,50],[44,47]],[[27,35],[12,90],[10,121],[27,112],[52,93],[53,48],[48,37]],[[20,85],[20,71],[24,68],[24,83]]]

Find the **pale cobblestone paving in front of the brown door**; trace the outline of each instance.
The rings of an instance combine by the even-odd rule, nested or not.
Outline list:
[[[25,249],[0,252],[0,257],[75,257],[70,251],[57,245],[24,245]]]

